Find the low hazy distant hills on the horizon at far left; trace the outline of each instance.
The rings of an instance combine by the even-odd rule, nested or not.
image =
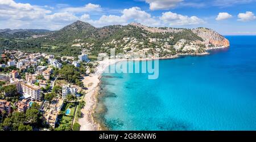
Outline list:
[[[52,31],[47,29],[0,29],[2,38],[26,38],[50,34]]]

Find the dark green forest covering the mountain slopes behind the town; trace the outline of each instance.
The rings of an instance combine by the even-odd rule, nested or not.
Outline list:
[[[162,27],[160,29],[167,29],[167,27]],[[177,28],[173,29],[178,30]],[[160,44],[166,42],[162,41],[158,45],[150,43],[148,38],[163,39],[174,37],[168,41],[168,44],[170,45],[176,44],[180,39],[185,39],[187,41],[203,41],[203,39],[193,33],[191,29],[181,29],[180,32],[152,33],[133,25],[110,25],[102,28],[95,28],[82,21],[77,21],[71,25],[67,25],[59,31],[50,33],[51,34],[43,37],[19,38],[19,40],[13,38],[0,38],[0,47],[3,49],[19,49],[21,51],[27,51],[28,53],[41,52],[58,56],[70,55],[73,57],[77,57],[77,55],[81,54],[82,49],[86,49],[91,53],[89,59],[94,61],[97,59],[98,53],[109,54],[110,48],[115,48],[116,54],[123,53],[123,45],[125,43],[120,42],[117,43],[117,45],[109,44],[108,48],[102,47],[102,44],[113,40],[122,40],[125,37],[134,37],[139,42],[143,42],[143,45],[138,44],[138,49],[155,48],[156,45],[162,46]],[[82,45],[80,48],[72,46],[73,44],[85,45]],[[131,49],[128,48],[126,51],[130,50]],[[42,61],[40,64],[46,65],[46,62]]]

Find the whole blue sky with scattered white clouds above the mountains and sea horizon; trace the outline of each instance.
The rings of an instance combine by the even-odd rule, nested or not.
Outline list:
[[[0,0],[0,29],[59,30],[77,20],[94,27],[212,28],[256,35],[256,0]]]

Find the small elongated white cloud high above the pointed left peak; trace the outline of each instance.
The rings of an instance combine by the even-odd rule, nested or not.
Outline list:
[[[94,5],[92,3],[88,3],[83,7],[65,7],[61,11],[63,12],[72,12],[72,13],[82,13],[88,11],[101,11],[100,5]]]

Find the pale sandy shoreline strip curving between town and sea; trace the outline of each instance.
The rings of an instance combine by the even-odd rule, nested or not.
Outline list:
[[[216,47],[216,48],[210,48],[208,50],[215,50],[215,49],[226,49],[229,47]],[[104,70],[106,67],[109,67],[112,64],[115,64],[117,62],[121,61],[148,61],[152,59],[159,59],[159,60],[166,60],[166,59],[177,59],[183,56],[203,56],[203,55],[209,55],[205,51],[204,53],[199,54],[177,54],[172,55],[171,57],[160,57],[160,58],[134,58],[134,59],[105,59],[102,61],[98,61],[99,64],[96,67],[96,71],[93,75],[85,76],[82,82],[84,85],[88,85],[92,83],[92,86],[88,87],[88,90],[85,94],[84,101],[85,101],[85,107],[81,110],[81,113],[84,115],[84,117],[79,118],[79,124],[81,125],[80,131],[102,131],[102,130],[108,130],[105,126],[101,124],[99,120],[96,120],[95,117],[93,117],[93,114],[96,113],[96,108],[98,104],[98,97],[100,93],[100,84],[101,84],[101,77],[104,73]]]

